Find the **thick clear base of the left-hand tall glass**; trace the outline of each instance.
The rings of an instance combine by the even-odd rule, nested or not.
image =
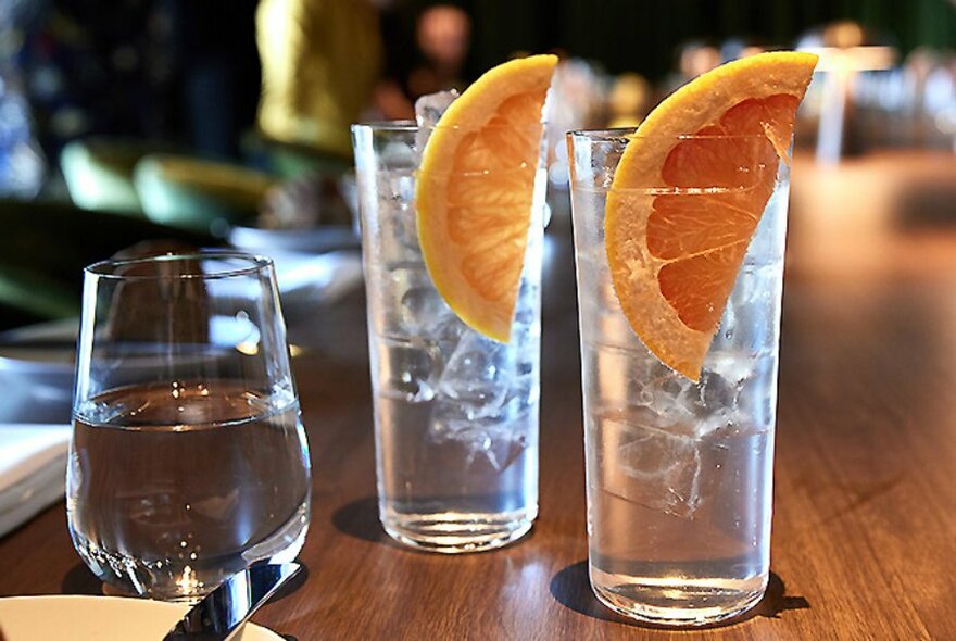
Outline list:
[[[381,519],[395,541],[425,552],[463,554],[514,543],[531,530],[537,512],[391,514]]]

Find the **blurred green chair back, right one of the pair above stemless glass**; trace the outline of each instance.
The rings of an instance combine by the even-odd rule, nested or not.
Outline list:
[[[276,179],[228,163],[153,154],[137,163],[134,184],[151,221],[223,237],[255,218]]]

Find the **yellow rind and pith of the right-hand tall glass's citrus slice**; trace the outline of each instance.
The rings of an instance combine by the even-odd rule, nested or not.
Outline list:
[[[704,74],[675,91],[647,116],[634,133],[615,171],[604,222],[605,248],[615,294],[631,328],[645,347],[664,364],[691,380],[700,379],[703,361],[717,327],[709,331],[688,327],[659,289],[644,291],[640,287],[641,282],[657,284],[659,271],[667,264],[650,254],[646,242],[639,241],[646,239],[655,198],[653,192],[668,188],[662,168],[678,137],[693,136],[717,123],[740,102],[738,97],[767,99],[777,95],[792,95],[802,99],[816,62],[817,56],[810,53],[773,52],[738,60]],[[701,96],[707,99],[700,100]],[[791,133],[792,120],[789,126],[779,130],[764,127],[764,135],[778,154],[781,148],[785,149]],[[767,191],[766,197],[769,196]],[[754,214],[756,229],[763,206]],[[747,238],[743,247],[732,248],[734,257],[739,255],[739,260],[743,260],[750,240]],[[710,257],[719,260],[721,256],[714,252]],[[738,263],[735,271],[739,268]],[[717,316],[721,313],[722,307]]]

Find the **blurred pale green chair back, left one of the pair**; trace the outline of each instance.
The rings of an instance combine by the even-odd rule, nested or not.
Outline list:
[[[66,143],[60,168],[70,198],[85,210],[142,216],[133,169],[156,151],[155,144],[125,139],[86,138]]]

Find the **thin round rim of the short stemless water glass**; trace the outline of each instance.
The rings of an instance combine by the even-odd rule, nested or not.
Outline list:
[[[224,267],[213,272],[197,272],[185,274],[163,274],[156,272],[154,274],[117,274],[116,269],[131,265],[146,264],[169,264],[186,263],[188,261],[209,261],[209,260],[230,260],[247,263],[243,266]],[[84,274],[96,276],[97,278],[113,280],[216,280],[222,278],[232,278],[236,276],[248,276],[262,272],[263,269],[272,269],[273,260],[242,251],[234,250],[210,250],[210,251],[192,251],[192,252],[167,252],[152,256],[139,256],[130,259],[106,259],[97,261],[84,267]]]

